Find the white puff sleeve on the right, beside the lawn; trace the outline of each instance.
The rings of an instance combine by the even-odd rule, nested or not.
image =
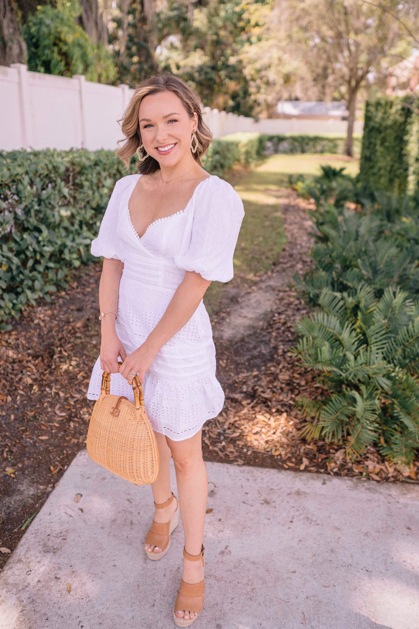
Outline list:
[[[209,281],[231,280],[243,217],[242,200],[229,183],[215,175],[204,180],[195,198],[190,244],[175,256],[177,267]]]

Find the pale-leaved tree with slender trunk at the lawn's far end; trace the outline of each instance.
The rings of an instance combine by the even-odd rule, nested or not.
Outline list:
[[[312,81],[324,81],[326,70],[326,81],[347,103],[346,153],[352,155],[359,91],[412,43],[406,30],[412,6],[400,0],[300,0],[293,9],[292,45],[306,51]]]

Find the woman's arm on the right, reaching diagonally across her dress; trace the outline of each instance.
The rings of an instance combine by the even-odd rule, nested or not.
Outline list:
[[[198,308],[210,281],[204,279],[195,271],[185,271],[185,277],[177,287],[168,304],[164,315],[150,332],[143,345],[136,349],[124,360],[119,368],[122,376],[129,384],[133,383],[132,376],[138,372],[139,381],[144,382],[146,370],[153,364],[156,354],[184,325],[188,323],[195,310]]]

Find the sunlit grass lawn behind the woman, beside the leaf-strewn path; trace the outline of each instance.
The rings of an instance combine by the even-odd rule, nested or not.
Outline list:
[[[318,175],[323,165],[343,166],[348,174],[356,175],[359,160],[344,155],[310,153],[270,155],[252,170],[233,172],[226,177],[244,204],[244,219],[233,260],[234,278],[230,285],[236,282],[251,284],[272,268],[286,242],[279,201],[288,187],[288,175]],[[204,302],[209,313],[217,310],[224,286],[222,282],[212,282],[205,293]]]

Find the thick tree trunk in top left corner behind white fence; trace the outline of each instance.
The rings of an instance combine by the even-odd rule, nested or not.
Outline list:
[[[0,65],[26,64],[26,56],[14,0],[0,0]]]

